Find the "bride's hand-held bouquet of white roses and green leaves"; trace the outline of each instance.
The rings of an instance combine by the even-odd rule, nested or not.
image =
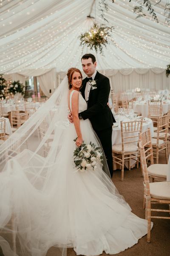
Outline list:
[[[76,140],[77,138],[74,139],[74,141]],[[89,169],[95,171],[97,163],[103,163],[102,149],[101,147],[96,147],[92,142],[84,144],[83,141],[83,144],[74,150],[73,159],[77,171],[83,172]]]

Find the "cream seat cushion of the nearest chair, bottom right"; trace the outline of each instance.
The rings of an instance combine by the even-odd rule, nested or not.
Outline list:
[[[153,198],[170,200],[170,181],[152,182],[149,185]]]

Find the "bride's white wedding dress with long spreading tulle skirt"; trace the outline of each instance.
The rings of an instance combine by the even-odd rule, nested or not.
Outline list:
[[[79,112],[85,109],[79,94]],[[80,127],[85,143],[99,145],[88,119],[81,120]],[[66,247],[73,247],[77,255],[95,256],[132,247],[147,233],[147,221],[131,213],[101,165],[96,171],[76,172],[74,124],[65,126],[62,136],[59,129],[57,123],[51,158],[25,149],[8,160],[0,174],[0,228],[7,231],[0,233],[4,255],[45,256],[55,246],[61,248],[56,256],[64,255]],[[30,157],[29,166],[24,166]],[[45,168],[47,158],[51,166]],[[37,171],[42,166],[43,171]],[[8,228],[11,216],[14,227]],[[16,240],[16,254],[8,232]]]

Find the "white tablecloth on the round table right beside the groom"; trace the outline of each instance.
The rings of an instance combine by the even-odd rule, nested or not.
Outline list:
[[[142,132],[146,131],[148,128],[150,128],[150,133],[151,133],[151,137],[153,137],[154,135],[154,131],[153,131],[153,121],[150,118],[145,118],[146,122],[143,123],[142,125]],[[127,121],[127,120],[125,120]],[[130,133],[130,136],[133,136],[133,133]],[[113,128],[113,132],[112,132],[112,146],[115,144],[122,144],[122,140],[121,140],[121,129],[120,127],[115,127]],[[132,167],[134,164],[136,163],[136,161],[134,159],[130,159],[130,166]],[[128,166],[128,163],[125,162],[125,166]],[[121,168],[120,165],[114,165],[114,170]]]

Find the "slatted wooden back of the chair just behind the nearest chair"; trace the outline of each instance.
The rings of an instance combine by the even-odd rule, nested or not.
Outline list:
[[[139,134],[139,141],[142,147],[144,147],[145,159],[150,157],[150,163],[153,165],[153,147],[151,141],[150,128]],[[147,147],[145,147],[147,145]]]

